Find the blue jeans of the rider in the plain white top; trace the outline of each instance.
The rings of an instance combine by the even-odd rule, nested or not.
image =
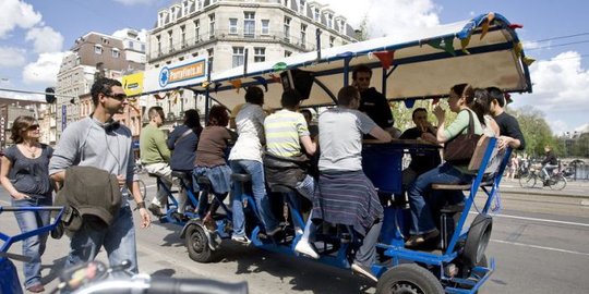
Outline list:
[[[272,231],[278,226],[278,221],[272,213],[266,184],[264,180],[264,166],[255,160],[230,160],[229,166],[233,173],[249,173],[252,176],[252,193],[255,199],[259,217],[266,231]],[[239,183],[233,183],[231,189],[233,195],[233,235],[245,235],[245,215],[243,213],[243,191]]]

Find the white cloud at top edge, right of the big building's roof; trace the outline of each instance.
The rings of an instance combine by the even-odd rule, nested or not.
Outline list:
[[[321,2],[344,15],[353,28],[359,28],[366,16],[370,37],[373,38],[386,35],[400,39],[408,37],[416,28],[440,24],[437,13],[441,8],[432,0],[368,0],[362,4],[341,0]]]

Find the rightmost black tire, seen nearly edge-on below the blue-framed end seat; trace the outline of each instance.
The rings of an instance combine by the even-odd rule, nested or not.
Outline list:
[[[462,260],[465,266],[473,268],[479,265],[484,257],[484,252],[491,240],[491,231],[493,230],[493,218],[489,215],[478,215],[470,229],[468,230],[465,250],[462,252]]]

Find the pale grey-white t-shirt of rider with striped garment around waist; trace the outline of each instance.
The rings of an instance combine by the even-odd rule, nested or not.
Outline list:
[[[320,171],[362,170],[362,136],[376,123],[366,114],[346,108],[333,108],[318,118]]]

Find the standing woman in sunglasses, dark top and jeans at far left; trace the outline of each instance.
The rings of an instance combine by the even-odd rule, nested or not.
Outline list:
[[[11,128],[15,145],[4,150],[0,182],[12,197],[12,206],[51,206],[52,184],[49,180],[50,146],[39,143],[39,124],[32,117],[19,117]],[[19,211],[16,221],[23,233],[49,224],[50,211]],[[29,292],[45,291],[41,284],[41,260],[48,233],[33,235],[23,241],[23,255],[31,257],[24,264],[25,287]]]

